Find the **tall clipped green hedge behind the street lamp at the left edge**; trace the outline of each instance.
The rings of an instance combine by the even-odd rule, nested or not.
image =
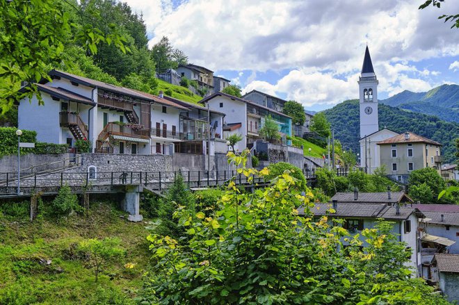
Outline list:
[[[17,128],[15,127],[0,127],[0,156],[8,156],[17,154]],[[21,142],[35,142],[37,133],[35,131],[23,130]],[[32,148],[22,148],[21,154],[32,152]]]

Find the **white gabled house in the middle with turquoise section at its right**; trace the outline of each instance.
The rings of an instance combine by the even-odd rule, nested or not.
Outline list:
[[[224,138],[238,133],[242,135],[241,142],[236,143],[234,149],[243,151],[260,138],[259,130],[268,115],[277,122],[284,143],[289,144],[287,135],[291,136],[291,117],[276,110],[261,106],[230,94],[216,92],[210,97],[202,99],[202,103],[209,104],[212,111],[225,113],[223,133]]]

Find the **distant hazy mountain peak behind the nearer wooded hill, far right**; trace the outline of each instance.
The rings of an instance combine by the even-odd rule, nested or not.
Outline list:
[[[428,92],[405,90],[380,101],[416,113],[437,115],[449,122],[459,122],[459,85],[441,85]]]

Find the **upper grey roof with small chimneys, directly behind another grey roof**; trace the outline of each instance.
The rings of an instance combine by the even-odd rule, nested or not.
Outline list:
[[[330,199],[330,202],[367,202],[376,203],[393,203],[393,202],[412,202],[405,192],[391,192],[391,199],[388,198],[387,192],[359,192],[357,200],[354,200],[354,192],[337,192]]]

